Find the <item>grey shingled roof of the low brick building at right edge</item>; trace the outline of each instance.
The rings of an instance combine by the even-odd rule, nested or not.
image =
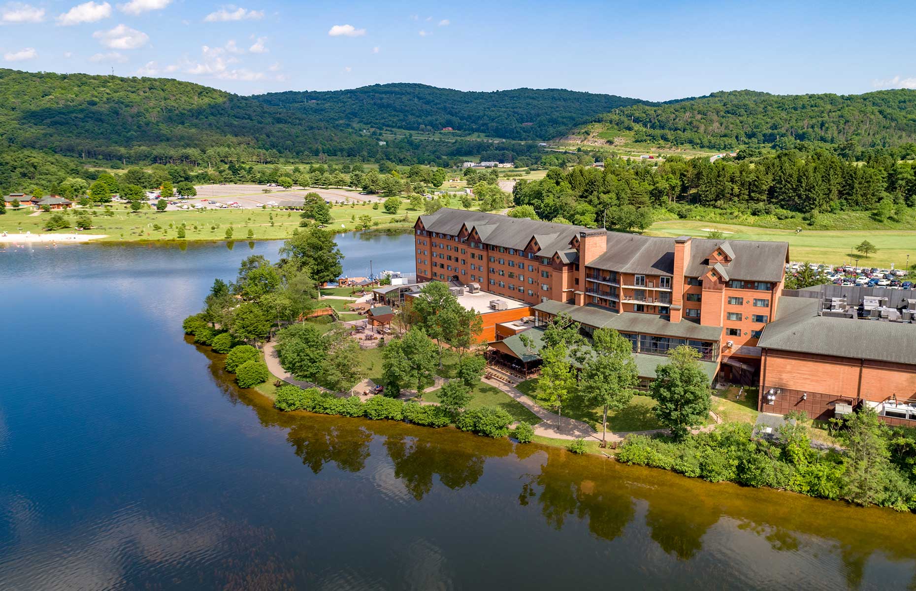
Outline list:
[[[758,346],[916,365],[916,324],[831,318],[819,307],[819,300],[781,296],[779,318],[763,328]]]

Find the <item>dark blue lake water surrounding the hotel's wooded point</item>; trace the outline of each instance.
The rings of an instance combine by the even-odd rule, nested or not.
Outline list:
[[[412,236],[342,235],[344,272]],[[0,589],[904,589],[916,517],[283,414],[180,321],[278,242],[0,248]]]

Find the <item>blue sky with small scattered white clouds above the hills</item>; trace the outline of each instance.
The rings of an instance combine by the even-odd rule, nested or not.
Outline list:
[[[239,94],[421,82],[653,101],[916,89],[916,4],[0,0],[0,67]]]

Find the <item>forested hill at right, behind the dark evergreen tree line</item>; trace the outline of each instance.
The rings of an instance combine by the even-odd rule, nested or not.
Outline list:
[[[866,94],[713,93],[671,104],[634,104],[602,115],[637,141],[728,149],[793,141],[860,148],[916,141],[916,90]]]

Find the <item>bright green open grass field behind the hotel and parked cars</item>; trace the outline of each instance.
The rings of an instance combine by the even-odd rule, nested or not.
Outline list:
[[[897,268],[903,268],[909,254],[911,264],[916,263],[916,231],[907,230],[803,230],[801,234],[796,234],[794,230],[673,220],[652,224],[647,234],[702,238],[709,235],[709,230],[720,230],[726,233],[726,237],[736,240],[788,242],[789,257],[793,261],[840,265],[855,264],[856,257],[859,257],[859,264],[863,266],[888,268],[893,263]],[[878,252],[867,258],[858,256],[854,247],[863,240],[878,246]]]

